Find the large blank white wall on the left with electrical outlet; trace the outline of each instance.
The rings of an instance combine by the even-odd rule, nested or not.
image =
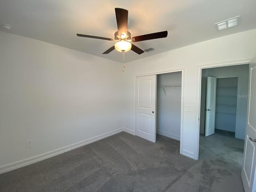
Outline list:
[[[122,77],[115,61],[0,32],[0,172],[120,131]]]

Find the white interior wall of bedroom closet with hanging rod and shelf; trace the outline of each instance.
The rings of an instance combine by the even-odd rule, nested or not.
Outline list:
[[[156,131],[160,135],[180,140],[182,72],[157,75],[157,86],[180,86],[157,89]]]

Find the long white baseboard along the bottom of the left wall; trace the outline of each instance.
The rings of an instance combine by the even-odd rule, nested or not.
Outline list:
[[[46,153],[43,153],[43,154],[39,154],[39,155],[30,157],[30,158],[26,158],[24,160],[20,160],[20,161],[16,161],[16,162],[13,162],[13,163],[10,163],[10,164],[7,164],[7,165],[0,166],[0,174],[4,173],[4,172],[11,171],[11,170],[14,170],[14,169],[17,169],[17,168],[21,168],[23,166],[33,164],[35,162],[38,162],[38,161],[56,156],[58,154],[62,154],[64,152],[73,150],[75,148],[84,146],[86,144],[93,143],[93,142],[98,141],[100,139],[104,139],[104,138],[109,137],[111,135],[115,135],[115,134],[120,133],[122,131],[128,132],[129,130],[125,129],[125,128],[116,129],[114,131],[110,131],[108,133],[104,133],[102,135],[98,135],[96,137],[92,137],[90,139],[80,141],[78,143],[70,144],[68,146],[64,146],[64,147],[61,147],[61,148],[58,148],[58,149],[55,149],[55,150],[52,150],[52,151],[49,151],[49,152],[46,152]],[[130,131],[128,133],[132,134],[132,131]]]

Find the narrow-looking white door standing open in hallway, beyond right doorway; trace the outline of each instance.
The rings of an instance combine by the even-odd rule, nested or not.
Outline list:
[[[214,134],[215,130],[216,84],[215,77],[207,77],[205,137]]]

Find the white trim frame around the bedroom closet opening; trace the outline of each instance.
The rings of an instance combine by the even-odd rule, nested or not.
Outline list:
[[[181,115],[180,115],[180,154],[182,154],[182,146],[183,146],[183,121],[184,121],[184,68],[181,69],[173,69],[169,71],[158,71],[154,73],[144,73],[144,74],[138,74],[134,76],[134,101],[136,101],[136,78],[137,77],[143,77],[148,75],[160,75],[165,73],[174,73],[174,72],[180,72],[181,71]],[[157,93],[157,92],[156,92]],[[156,97],[157,99],[157,97]],[[136,102],[134,102],[134,119],[136,119]],[[156,111],[157,113],[157,111]],[[134,124],[134,127],[136,127],[136,121]],[[135,129],[135,135],[136,135],[136,129]]]

